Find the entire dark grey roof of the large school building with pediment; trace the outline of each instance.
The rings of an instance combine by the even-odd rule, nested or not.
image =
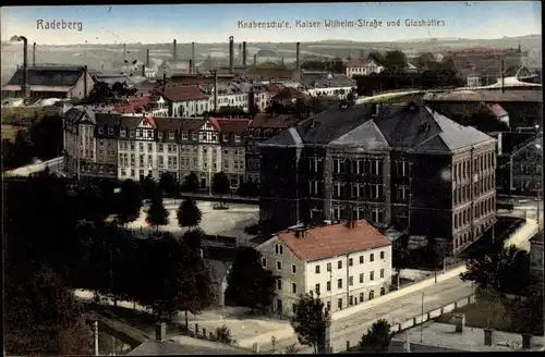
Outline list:
[[[331,145],[367,150],[389,147],[416,152],[452,152],[493,140],[488,135],[413,102],[380,107],[332,107],[262,143],[263,146]],[[296,130],[295,130],[296,128]]]

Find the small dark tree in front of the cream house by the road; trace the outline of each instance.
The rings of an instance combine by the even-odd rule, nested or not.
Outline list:
[[[326,347],[324,346],[326,328],[331,321],[329,311],[324,308],[319,296],[300,295],[290,323],[300,344],[314,347],[315,354],[318,353],[319,346]]]

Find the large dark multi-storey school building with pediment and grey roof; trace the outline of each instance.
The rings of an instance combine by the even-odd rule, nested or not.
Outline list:
[[[424,106],[340,104],[258,147],[265,232],[366,219],[453,254],[495,222],[496,140]]]

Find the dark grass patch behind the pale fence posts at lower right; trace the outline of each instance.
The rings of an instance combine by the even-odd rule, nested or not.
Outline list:
[[[507,316],[512,316],[513,313],[517,313],[514,307],[516,304],[514,300],[505,299],[504,301]],[[489,304],[487,301],[481,301],[481,303],[477,301],[475,304],[465,305],[453,310],[452,312],[445,313],[438,317],[437,319],[435,319],[435,321],[441,323],[450,323],[455,313],[463,313],[465,315],[467,327],[475,329],[486,329],[488,317],[495,313],[494,311],[489,310],[488,305]],[[512,332],[510,331],[510,321],[507,320],[509,319],[506,319],[506,321],[501,321],[501,323],[498,323],[496,330]]]

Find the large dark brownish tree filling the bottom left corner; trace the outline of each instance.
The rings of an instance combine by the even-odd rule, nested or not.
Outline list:
[[[93,335],[73,293],[40,262],[4,266],[4,352],[90,355]]]

